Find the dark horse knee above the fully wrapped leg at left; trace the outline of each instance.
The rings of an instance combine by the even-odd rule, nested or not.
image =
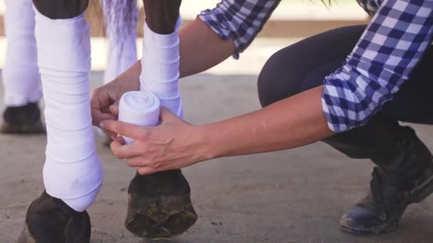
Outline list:
[[[74,18],[87,9],[89,0],[33,0],[39,13],[51,19]]]

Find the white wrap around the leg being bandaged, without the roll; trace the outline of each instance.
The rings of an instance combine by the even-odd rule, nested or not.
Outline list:
[[[143,39],[142,72],[140,90],[150,90],[160,98],[161,107],[166,107],[178,117],[182,114],[182,98],[179,92],[179,26],[175,31],[161,35],[152,31],[145,23]]]

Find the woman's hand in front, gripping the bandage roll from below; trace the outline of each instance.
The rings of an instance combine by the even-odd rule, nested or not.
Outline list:
[[[121,136],[111,143],[111,151],[125,158],[141,175],[191,166],[209,159],[199,126],[188,124],[162,108],[159,126],[135,126],[121,121],[102,121],[102,129],[134,139],[125,144]]]

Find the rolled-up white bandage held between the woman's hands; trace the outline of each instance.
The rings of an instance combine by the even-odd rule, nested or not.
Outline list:
[[[122,95],[119,121],[137,126],[157,126],[160,120],[160,100],[149,91],[132,91]],[[127,144],[133,139],[123,136]]]

